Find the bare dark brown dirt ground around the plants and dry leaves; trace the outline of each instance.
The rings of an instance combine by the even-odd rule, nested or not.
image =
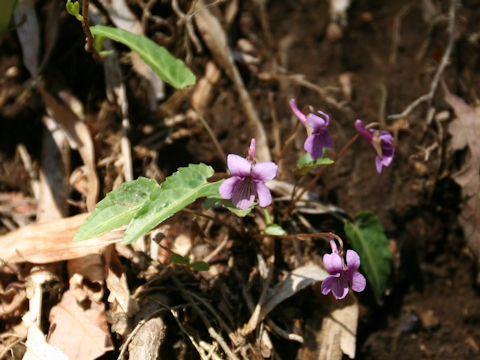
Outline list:
[[[431,3],[437,6],[439,13],[448,13],[446,1],[433,0]],[[393,25],[406,4],[405,1],[394,0],[353,1],[342,37],[332,42],[326,34],[329,22],[326,2],[270,1],[266,12],[272,38],[269,44],[258,8],[253,1],[241,1],[239,13],[228,32],[229,41],[236,49],[238,39],[246,38],[256,49],[255,55],[260,63],[253,67],[241,63],[239,66],[267,134],[273,130],[269,96],[274,100],[283,139],[292,126],[288,108],[291,97],[331,115],[336,144],[345,143],[354,135],[353,122],[357,118],[365,122],[385,121],[395,134],[395,160],[381,176],[375,172],[370,149],[357,142],[353,151],[347,152],[315,188],[324,201],[334,203],[349,214],[361,210],[373,211],[396,248],[394,272],[384,304],[376,305],[369,291],[358,296],[361,313],[357,358],[473,359],[480,356],[480,307],[474,280],[476,261],[465,244],[457,221],[460,189],[449,177],[458,167],[460,157],[454,157],[447,150],[447,123],[427,123],[425,104],[404,122],[382,119],[380,112],[382,104],[385,105],[385,115],[401,112],[416,97],[428,91],[447,43],[446,21],[439,21],[429,32],[429,20],[424,18],[420,2],[412,2],[401,23],[396,63],[391,64]],[[139,11],[135,5],[133,8]],[[220,8],[223,9],[224,5]],[[155,11],[174,21],[168,2],[160,2],[153,8]],[[479,16],[479,1],[465,0],[459,6],[455,46],[444,76],[450,90],[468,102],[478,101],[477,92],[480,91]],[[62,18],[60,25],[62,31],[45,74],[47,83],[52,88],[65,86],[76,94],[85,104],[95,131],[105,137],[118,133],[118,114],[115,111],[110,111],[110,117],[104,116],[102,123],[95,123],[105,96],[103,74],[101,67],[83,52],[80,26],[67,16]],[[175,29],[172,36],[174,39],[183,38],[183,29]],[[477,40],[472,40],[475,36]],[[426,41],[423,56],[416,59]],[[180,41],[165,45],[178,57],[185,56]],[[194,72],[201,74],[210,58],[208,53],[195,54],[190,64]],[[6,69],[14,65],[20,69],[19,76],[2,78]],[[350,110],[332,107],[315,91],[292,81],[265,80],[259,76],[260,73],[278,74],[280,67],[289,73],[304,74],[306,79],[320,86],[337,88],[339,76],[350,73],[353,86],[352,99],[347,103]],[[124,70],[133,124],[131,138],[136,145],[144,140],[143,132],[147,125],[155,131],[162,130],[161,117],[148,111],[145,94],[137,86],[138,77],[128,64],[124,65]],[[28,175],[15,157],[15,147],[24,143],[38,161],[41,140],[37,134],[42,131],[44,108],[36,94],[30,94],[20,104],[15,101],[28,80],[15,34],[0,38],[0,74],[0,88],[10,92],[7,101],[0,106],[0,191],[28,194]],[[382,95],[382,89],[386,95]],[[337,99],[343,98],[336,90],[332,94]],[[441,89],[432,105],[437,112],[448,110]],[[211,121],[227,152],[244,152],[250,135],[245,129],[237,94],[225,76],[214,90],[212,104],[205,117]],[[222,163],[207,134],[195,130],[198,124],[188,123],[185,126],[194,130],[191,136],[172,145],[158,146],[156,165],[161,174],[168,175],[179,166],[199,161],[222,170]],[[273,145],[271,138],[270,141]],[[438,146],[425,161],[425,151],[434,143]],[[286,163],[293,164],[300,150],[301,147],[297,153],[289,153]],[[107,156],[109,151],[104,142],[100,143],[98,157]],[[78,162],[78,159],[73,160]],[[135,175],[144,174],[148,164],[148,159],[137,156],[134,159]],[[100,173],[103,193],[109,191],[112,185],[108,171],[112,170]],[[75,196],[79,198],[78,194]],[[171,225],[182,228],[182,220],[182,217],[175,217]],[[332,219],[312,216],[309,220],[322,231],[341,231],[340,225]],[[217,229],[217,233],[220,234],[221,229]],[[277,242],[275,245],[278,258],[288,259],[294,252],[290,244]],[[252,243],[235,242],[228,254],[220,256],[219,263],[225,265],[225,273],[218,282],[202,283],[204,290],[209,288],[204,296],[210,296],[212,301],[216,301],[217,296],[223,297],[225,303],[235,309],[235,301],[241,302],[241,299],[234,292],[224,293],[225,287],[232,291],[236,286],[226,261],[232,256],[244,278],[247,278],[255,261],[249,253],[254,246]],[[305,254],[312,249],[316,258],[325,250],[323,246],[309,245],[302,251]],[[278,260],[280,266],[285,265],[282,261]],[[288,260],[285,261],[288,263]],[[134,273],[135,269],[130,271]],[[196,281],[193,277],[187,276],[186,279]],[[306,291],[310,294],[310,290]],[[274,320],[301,331],[301,324],[318,306],[302,294],[285,302],[281,310],[274,312]],[[223,305],[227,306],[225,303]],[[245,322],[248,319],[245,305],[241,305],[233,315],[235,319],[232,321]],[[297,328],[293,325],[295,321],[300,323],[297,323]],[[278,339],[275,345],[279,349],[276,358],[293,359],[297,356],[297,346]],[[188,351],[191,350],[187,350],[187,354]],[[188,355],[185,356],[188,358]]]

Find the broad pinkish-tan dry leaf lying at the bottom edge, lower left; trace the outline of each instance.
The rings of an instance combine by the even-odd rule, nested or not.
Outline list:
[[[48,343],[70,360],[96,359],[114,349],[105,317],[105,304],[79,304],[71,290],[50,311]]]

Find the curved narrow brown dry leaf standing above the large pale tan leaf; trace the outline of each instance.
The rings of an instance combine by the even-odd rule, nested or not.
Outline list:
[[[48,112],[55,119],[78,150],[87,167],[88,196],[87,209],[93,211],[99,193],[99,181],[95,163],[95,149],[87,125],[66,105],[61,104],[46,90],[39,88]]]

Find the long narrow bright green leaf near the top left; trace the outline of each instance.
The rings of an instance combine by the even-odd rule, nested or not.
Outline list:
[[[111,26],[91,26],[94,35],[108,37],[118,41],[135,51],[165,82],[176,89],[195,84],[195,75],[180,59],[175,58],[167,49],[145,36],[132,34],[129,31]]]

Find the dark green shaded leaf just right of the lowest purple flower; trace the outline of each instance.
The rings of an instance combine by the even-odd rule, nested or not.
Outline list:
[[[345,224],[345,233],[353,249],[360,255],[362,269],[377,302],[381,303],[391,262],[388,239],[382,224],[371,212],[361,212],[355,216],[353,223]]]

